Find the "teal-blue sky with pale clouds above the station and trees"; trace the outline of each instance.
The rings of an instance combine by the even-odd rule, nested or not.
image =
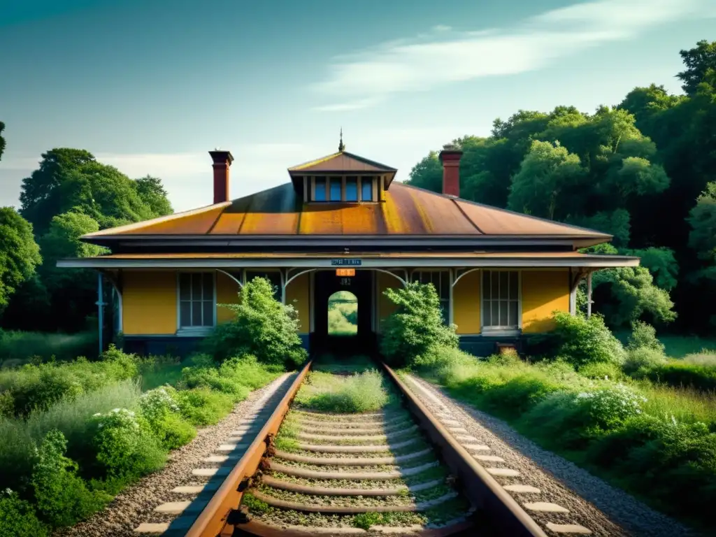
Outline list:
[[[237,198],[334,152],[340,127],[404,180],[519,109],[679,92],[679,49],[715,19],[715,0],[5,0],[0,205],[41,153],[78,147],[163,178],[182,211],[211,203],[213,147]]]

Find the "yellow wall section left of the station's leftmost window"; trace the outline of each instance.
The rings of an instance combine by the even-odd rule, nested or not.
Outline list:
[[[122,279],[122,332],[127,335],[175,334],[175,271],[124,271]]]

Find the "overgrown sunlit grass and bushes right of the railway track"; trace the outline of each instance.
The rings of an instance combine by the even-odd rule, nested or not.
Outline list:
[[[566,362],[436,351],[419,372],[655,507],[697,524],[716,501],[716,397],[589,379]],[[648,462],[647,462],[648,461]]]

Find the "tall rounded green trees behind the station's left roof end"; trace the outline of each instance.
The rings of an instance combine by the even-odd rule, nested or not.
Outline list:
[[[22,181],[20,203],[43,261],[19,286],[2,322],[24,329],[81,329],[96,311],[96,276],[56,266],[59,258],[101,253],[80,236],[172,213],[159,178],[130,179],[92,153],[67,147],[42,155],[39,168]]]

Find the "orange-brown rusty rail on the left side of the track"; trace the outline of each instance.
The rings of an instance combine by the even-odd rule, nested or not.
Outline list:
[[[261,427],[261,431],[258,432],[251,445],[248,446],[246,452],[221,484],[221,487],[216,490],[209,503],[189,528],[185,534],[186,537],[231,536],[235,525],[231,523],[229,516],[238,509],[238,505],[241,503],[241,497],[243,496],[241,483],[256,473],[258,465],[261,463],[261,458],[266,452],[266,438],[279,432],[281,422],[284,421],[286,412],[289,411],[289,405],[291,405],[296,392],[299,391],[299,387],[304,382],[312,363],[312,361],[308,362],[301,369],[269,420]]]

